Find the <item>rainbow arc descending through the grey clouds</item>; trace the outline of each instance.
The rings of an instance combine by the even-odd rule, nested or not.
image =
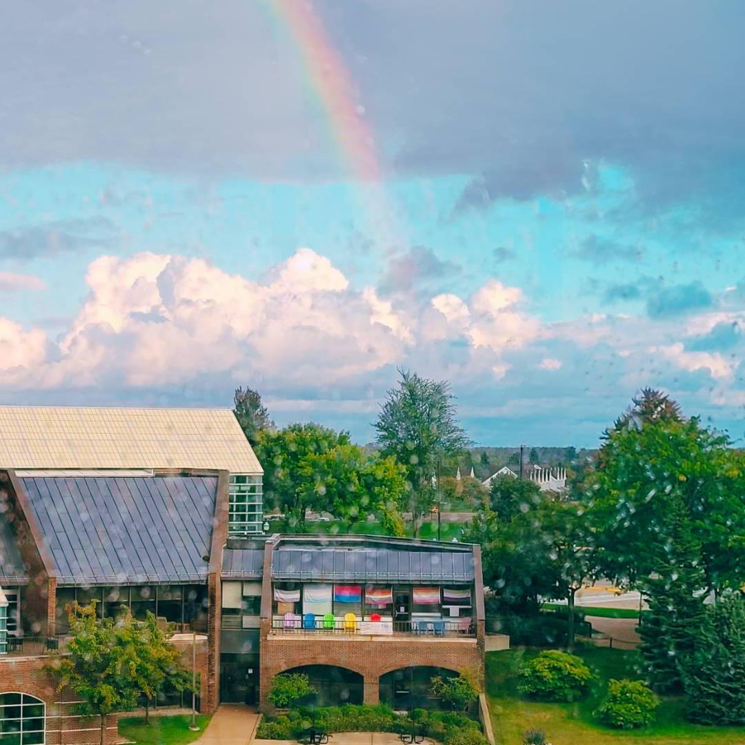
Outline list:
[[[267,6],[299,48],[308,84],[320,101],[340,151],[340,166],[358,182],[375,232],[390,241],[393,210],[382,187],[381,160],[346,63],[311,0],[267,0]]]

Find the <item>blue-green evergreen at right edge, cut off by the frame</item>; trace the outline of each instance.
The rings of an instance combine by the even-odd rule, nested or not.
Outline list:
[[[745,600],[728,593],[706,607],[696,649],[683,662],[685,715],[700,724],[745,724]]]

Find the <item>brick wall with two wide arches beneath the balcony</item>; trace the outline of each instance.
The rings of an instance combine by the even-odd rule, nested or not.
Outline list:
[[[371,640],[311,637],[299,634],[269,635],[270,621],[261,621],[261,711],[268,711],[267,694],[273,677],[303,665],[335,665],[359,673],[364,679],[364,703],[378,703],[380,676],[400,668],[434,667],[460,672],[484,672],[483,641],[468,639],[417,639],[394,637]]]

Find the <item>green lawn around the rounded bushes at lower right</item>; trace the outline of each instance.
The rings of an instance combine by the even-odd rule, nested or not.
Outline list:
[[[589,647],[577,650],[599,676],[589,697],[574,704],[535,703],[517,692],[517,667],[534,650],[486,655],[486,690],[499,745],[522,745],[527,729],[542,729],[552,745],[745,745],[745,727],[703,727],[685,723],[682,700],[667,698],[652,726],[618,732],[595,723],[592,712],[609,678],[638,678],[638,653]]]

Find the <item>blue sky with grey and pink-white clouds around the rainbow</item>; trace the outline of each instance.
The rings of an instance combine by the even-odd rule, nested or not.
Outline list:
[[[250,385],[366,441],[409,367],[481,444],[592,446],[644,385],[743,436],[740,4],[319,0],[372,186],[265,8],[168,5],[0,30],[3,402]]]

